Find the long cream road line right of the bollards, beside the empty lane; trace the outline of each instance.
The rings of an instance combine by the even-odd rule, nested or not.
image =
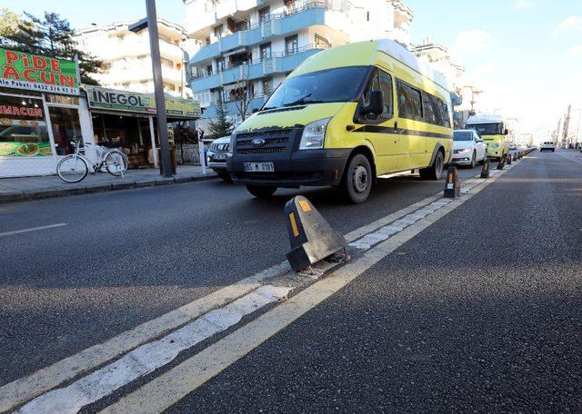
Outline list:
[[[362,257],[355,261],[347,262],[346,265],[333,271],[326,278],[316,281],[288,301],[276,306],[271,311],[267,311],[256,320],[248,322],[245,326],[235,330],[222,340],[218,340],[173,369],[166,371],[141,388],[135,389],[115,404],[102,410],[101,413],[158,413],[171,407],[207,380],[226,370],[236,360],[245,357],[251,350],[256,349],[307,311],[325,301],[336,291],[343,289],[347,283],[355,280],[389,253],[415,237],[416,234],[424,231],[459,205],[467,202],[477,192],[495,182],[499,176],[500,174],[497,174],[494,179],[480,182],[474,192],[467,193],[460,199],[440,203],[441,207],[437,212],[411,224],[390,239],[366,251]]]

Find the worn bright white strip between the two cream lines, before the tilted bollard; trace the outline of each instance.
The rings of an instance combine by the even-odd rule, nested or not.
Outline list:
[[[163,367],[174,360],[182,350],[192,348],[217,332],[236,325],[244,316],[284,298],[291,289],[262,286],[224,308],[206,313],[160,340],[146,343],[132,350],[123,358],[115,360],[65,388],[54,389],[33,399],[18,412],[23,414],[75,413],[85,405],[111,394],[115,389]]]

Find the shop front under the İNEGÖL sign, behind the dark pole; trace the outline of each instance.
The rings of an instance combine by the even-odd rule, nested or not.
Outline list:
[[[153,94],[84,86],[94,139],[120,147],[130,168],[157,167],[159,139],[156,99]],[[168,140],[174,144],[174,126],[200,117],[200,104],[192,99],[166,97]]]

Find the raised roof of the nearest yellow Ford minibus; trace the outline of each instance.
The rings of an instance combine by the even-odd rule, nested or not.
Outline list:
[[[343,44],[341,46],[324,50],[306,59],[306,61],[301,64],[291,74],[291,76],[307,74],[332,67],[367,66],[374,64],[377,52],[382,52],[391,56],[418,74],[426,76],[434,83],[447,89],[447,91],[449,90],[447,80],[442,74],[433,71],[428,64],[418,60],[414,54],[406,49],[406,47],[397,44],[390,39]]]

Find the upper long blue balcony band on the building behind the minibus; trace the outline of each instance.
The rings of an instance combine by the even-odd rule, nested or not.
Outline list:
[[[190,64],[197,64],[215,58],[223,52],[239,47],[259,44],[268,37],[296,33],[310,25],[326,25],[329,23],[330,17],[336,22],[336,16],[326,15],[326,12],[330,10],[331,7],[328,2],[317,1],[307,3],[290,14],[270,15],[270,19],[260,25],[251,25],[247,30],[228,34],[218,39],[216,43],[202,47],[192,57]],[[334,26],[340,27],[341,25]]]

